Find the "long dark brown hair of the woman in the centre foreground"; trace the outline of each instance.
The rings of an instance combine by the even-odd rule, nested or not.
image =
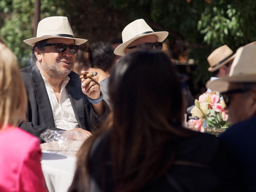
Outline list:
[[[182,128],[184,100],[175,67],[163,52],[132,52],[112,71],[109,95],[113,114],[101,132],[109,129],[110,146],[102,147],[111,149],[114,189],[140,190],[167,172],[176,141],[190,135]],[[98,134],[80,149],[74,180],[88,175],[86,155]]]

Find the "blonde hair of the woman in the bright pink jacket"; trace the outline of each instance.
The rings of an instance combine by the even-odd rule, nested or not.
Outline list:
[[[0,129],[26,117],[26,90],[16,56],[0,41]]]

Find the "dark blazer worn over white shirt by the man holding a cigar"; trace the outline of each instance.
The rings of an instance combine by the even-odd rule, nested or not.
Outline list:
[[[60,130],[55,128],[50,100],[38,67],[34,64],[21,69],[20,72],[28,94],[27,122],[21,122],[19,125],[20,128],[38,138],[40,138],[40,134],[47,129]],[[70,80],[66,85],[66,89],[78,125],[80,128],[93,132],[108,116],[110,111],[109,107],[106,102],[104,102],[105,113],[101,117],[96,115],[87,96],[84,95],[81,90],[79,75],[71,71],[68,76]]]

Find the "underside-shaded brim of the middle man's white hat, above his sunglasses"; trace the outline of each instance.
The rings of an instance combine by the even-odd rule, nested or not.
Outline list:
[[[114,54],[119,55],[119,56],[124,56],[124,49],[133,41],[135,41],[138,38],[144,37],[144,36],[148,36],[148,35],[156,35],[158,37],[158,41],[159,42],[163,42],[167,36],[168,36],[168,32],[167,31],[158,31],[158,32],[152,32],[152,33],[147,33],[147,34],[143,34],[143,35],[139,35],[136,36],[134,38],[131,38],[130,40],[123,42],[122,44],[120,44],[115,50],[114,50]]]

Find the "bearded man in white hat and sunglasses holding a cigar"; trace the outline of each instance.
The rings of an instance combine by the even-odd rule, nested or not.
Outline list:
[[[86,136],[108,114],[100,85],[93,78],[81,80],[72,71],[79,45],[67,17],[53,16],[38,23],[32,65],[21,70],[28,93],[27,122],[20,127],[40,137],[47,129],[79,131]],[[83,71],[82,74],[87,72]]]

